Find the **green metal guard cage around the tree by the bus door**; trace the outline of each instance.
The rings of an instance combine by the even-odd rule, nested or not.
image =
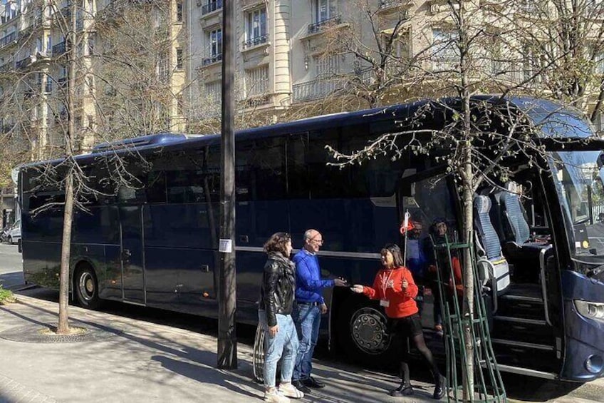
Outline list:
[[[434,261],[437,263],[437,278],[440,295],[440,309],[444,325],[444,344],[447,362],[447,401],[448,402],[505,402],[506,391],[497,367],[491,336],[489,315],[486,305],[491,305],[489,293],[479,277],[474,248],[467,243],[450,243],[447,236],[434,240]],[[440,243],[437,243],[440,242]],[[463,288],[462,278],[455,275],[454,260],[464,267],[464,252],[469,250],[472,256],[474,272],[474,318],[462,315]],[[456,278],[457,277],[457,278]],[[459,290],[458,290],[459,289]],[[474,396],[463,399],[462,370],[467,367],[464,327],[470,325],[472,345],[474,347]]]

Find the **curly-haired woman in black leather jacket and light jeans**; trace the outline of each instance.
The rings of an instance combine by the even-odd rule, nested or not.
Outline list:
[[[258,318],[264,327],[264,401],[288,403],[289,397],[304,397],[291,383],[298,351],[298,334],[291,318],[296,273],[291,254],[291,236],[275,233],[264,244],[269,255],[264,265]],[[281,384],[276,389],[277,362],[281,361]]]

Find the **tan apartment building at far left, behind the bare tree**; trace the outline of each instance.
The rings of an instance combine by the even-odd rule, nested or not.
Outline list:
[[[35,150],[32,158],[61,154],[73,68],[75,146],[81,151],[107,139],[107,133],[184,131],[183,2],[73,1],[1,0],[1,130],[21,136]],[[139,16],[127,20],[132,10]],[[71,57],[67,33],[73,28]],[[142,36],[137,43],[136,31]],[[145,79],[137,82],[128,74]],[[151,88],[158,87],[160,95],[151,99]]]

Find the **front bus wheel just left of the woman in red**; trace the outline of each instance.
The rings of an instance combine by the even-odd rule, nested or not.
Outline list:
[[[350,296],[338,310],[338,342],[346,356],[365,366],[396,362],[395,343],[379,305],[366,297]]]

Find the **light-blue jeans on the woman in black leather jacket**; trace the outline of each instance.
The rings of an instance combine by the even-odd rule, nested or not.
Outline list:
[[[258,311],[258,319],[264,327],[264,387],[275,387],[277,362],[281,360],[281,382],[291,382],[293,364],[298,351],[298,335],[291,315],[276,315],[279,331],[274,337],[269,335],[266,312]]]

